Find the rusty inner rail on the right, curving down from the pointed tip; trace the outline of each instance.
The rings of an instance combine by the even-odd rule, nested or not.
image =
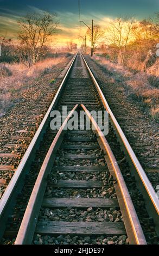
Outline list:
[[[133,206],[128,188],[126,187],[123,175],[120,171],[117,160],[112,153],[110,145],[104,137],[103,132],[100,130],[100,127],[92,117],[91,113],[84,105],[81,105],[81,107],[84,109],[88,119],[90,119],[92,123],[92,130],[97,135],[98,143],[101,149],[104,151],[105,160],[110,173],[117,181],[114,182],[114,186],[117,193],[120,210],[122,211],[125,229],[126,233],[128,234],[129,241],[133,245],[146,245],[147,242],[145,240],[141,224],[139,223],[136,210]]]

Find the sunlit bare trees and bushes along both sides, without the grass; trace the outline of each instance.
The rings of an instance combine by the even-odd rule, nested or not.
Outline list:
[[[28,14],[17,22],[20,27],[18,44],[6,36],[0,37],[1,61],[20,61],[29,67],[50,52],[48,42],[50,36],[58,31],[58,17],[43,11]],[[141,69],[146,69],[150,61],[155,61],[156,44],[159,42],[159,12],[154,18],[143,21],[128,16],[118,17],[111,20],[105,29],[96,25],[93,32],[87,30],[87,40],[92,42],[93,53],[100,51],[112,62],[123,66],[130,64],[131,68],[140,63]],[[77,50],[77,44],[69,40],[66,50]]]

